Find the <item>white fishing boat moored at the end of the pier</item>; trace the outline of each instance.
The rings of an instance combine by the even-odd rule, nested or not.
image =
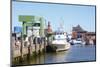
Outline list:
[[[56,51],[64,51],[70,48],[70,43],[66,40],[65,32],[56,32],[52,45],[56,47]]]

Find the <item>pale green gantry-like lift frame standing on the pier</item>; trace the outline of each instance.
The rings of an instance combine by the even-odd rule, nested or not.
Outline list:
[[[22,22],[22,36],[27,35],[27,27],[37,27],[38,26],[40,27],[39,36],[44,37],[45,19],[43,17],[20,15],[19,22]]]

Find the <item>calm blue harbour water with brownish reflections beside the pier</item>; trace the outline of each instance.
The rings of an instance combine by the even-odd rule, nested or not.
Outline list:
[[[44,63],[61,63],[61,62],[78,62],[78,61],[94,61],[95,45],[81,46],[72,45],[68,51],[57,53],[46,53],[23,64],[44,64]]]

